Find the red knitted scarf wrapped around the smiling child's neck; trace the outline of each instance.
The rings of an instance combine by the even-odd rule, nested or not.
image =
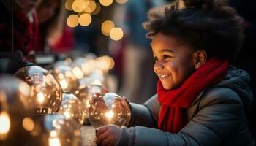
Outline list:
[[[158,128],[178,133],[187,125],[187,108],[199,93],[209,85],[220,82],[225,76],[229,63],[227,60],[210,58],[200,66],[179,88],[166,91],[160,80],[157,83],[159,111]]]

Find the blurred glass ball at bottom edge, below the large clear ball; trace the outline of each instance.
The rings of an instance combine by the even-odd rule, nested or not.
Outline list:
[[[40,119],[39,128],[28,143],[37,146],[80,146],[80,129],[73,120],[66,120],[64,115],[55,113]]]

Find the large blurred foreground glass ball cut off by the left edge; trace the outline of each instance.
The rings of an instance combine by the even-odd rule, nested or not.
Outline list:
[[[15,77],[0,77],[0,145],[25,145],[31,139],[34,116],[29,112],[30,87]],[[22,136],[22,137],[20,137]]]

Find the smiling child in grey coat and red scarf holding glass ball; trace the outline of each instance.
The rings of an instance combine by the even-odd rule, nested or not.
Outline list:
[[[144,28],[152,38],[157,95],[130,103],[130,128],[100,128],[101,145],[255,145],[245,116],[249,75],[230,66],[244,39],[242,19],[224,0],[184,4],[149,13]]]

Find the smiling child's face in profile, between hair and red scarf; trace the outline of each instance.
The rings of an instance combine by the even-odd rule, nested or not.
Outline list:
[[[178,43],[175,37],[158,33],[152,39],[154,72],[165,90],[178,88],[195,72],[193,50]]]

